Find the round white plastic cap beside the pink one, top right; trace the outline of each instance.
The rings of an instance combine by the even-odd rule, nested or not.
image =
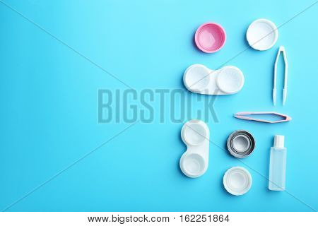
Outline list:
[[[267,50],[273,47],[278,39],[278,30],[271,20],[254,20],[246,32],[247,42],[257,50]]]

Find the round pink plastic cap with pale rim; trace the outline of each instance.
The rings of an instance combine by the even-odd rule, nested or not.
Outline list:
[[[196,47],[206,53],[220,50],[225,44],[225,30],[218,23],[204,23],[197,30],[194,37]]]

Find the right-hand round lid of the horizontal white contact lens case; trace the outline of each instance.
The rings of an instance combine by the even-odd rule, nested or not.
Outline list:
[[[224,93],[237,93],[244,85],[243,73],[236,66],[225,66],[218,73],[216,84]]]

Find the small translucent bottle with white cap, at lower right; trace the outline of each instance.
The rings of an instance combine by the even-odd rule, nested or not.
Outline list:
[[[284,148],[284,136],[274,136],[271,157],[269,160],[269,190],[285,190],[286,151]]]

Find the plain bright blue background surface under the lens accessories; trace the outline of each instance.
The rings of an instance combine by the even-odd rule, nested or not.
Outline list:
[[[131,126],[54,177],[129,126],[98,124],[97,119],[98,89],[126,87],[0,3],[1,210],[12,203],[6,210],[311,211],[304,203],[318,209],[318,4],[293,18],[313,1],[4,2],[136,90],[184,88],[187,66],[216,69],[247,48],[245,32],[253,20],[268,18],[283,25],[272,49],[247,49],[228,62],[242,69],[245,86],[237,95],[218,97],[218,122],[211,115],[208,120],[211,140],[222,147],[236,129],[254,134],[257,148],[243,163],[211,145],[206,174],[185,177],[178,166],[186,148],[179,138],[182,124],[156,118]],[[206,21],[220,23],[227,32],[225,46],[216,54],[199,52],[192,42],[196,28]],[[289,64],[285,107],[279,89],[278,106],[271,101],[279,45],[285,46]],[[278,88],[283,87],[282,77],[281,70]],[[159,112],[158,97],[153,105]],[[194,102],[193,109],[202,108],[202,102]],[[232,117],[240,111],[270,110],[293,120],[259,124]],[[260,176],[268,175],[275,134],[285,135],[290,194],[269,191]],[[231,196],[223,189],[223,174],[245,164],[252,189]]]

